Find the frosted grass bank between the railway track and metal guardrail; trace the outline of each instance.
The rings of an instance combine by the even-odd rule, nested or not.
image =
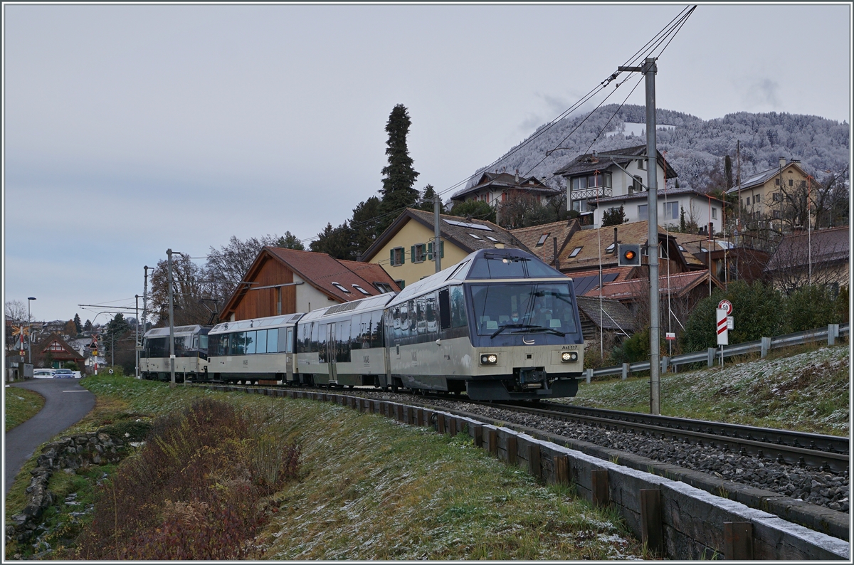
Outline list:
[[[756,356],[757,357],[757,356]],[[661,377],[661,413],[816,434],[849,434],[851,349],[798,347]],[[649,412],[649,376],[581,384],[572,404]]]

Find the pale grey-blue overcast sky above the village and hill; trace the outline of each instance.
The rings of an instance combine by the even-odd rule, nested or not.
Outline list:
[[[381,187],[398,103],[417,188],[447,189],[682,8],[6,3],[4,300],[95,319],[77,305],[133,306],[167,248],[341,224]],[[850,71],[848,4],[701,4],[658,61],[657,102],[850,124]]]

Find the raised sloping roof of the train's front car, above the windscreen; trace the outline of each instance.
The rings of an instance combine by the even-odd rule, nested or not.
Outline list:
[[[488,279],[541,280],[543,278],[570,280],[564,273],[544,263],[536,255],[522,249],[478,249],[466,255],[465,259],[456,265],[443,269],[435,275],[430,275],[430,277],[425,277],[418,283],[408,285],[407,288],[401,290],[395,300],[389,303],[389,306],[401,304],[437,288],[444,288],[451,280],[462,283],[463,281]]]

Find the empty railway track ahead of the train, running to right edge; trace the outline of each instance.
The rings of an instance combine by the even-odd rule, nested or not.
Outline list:
[[[603,428],[613,428],[640,435],[671,438],[734,451],[742,455],[763,457],[778,463],[788,463],[811,469],[844,473],[849,469],[849,439],[834,435],[806,434],[774,428],[753,428],[740,424],[708,422],[673,416],[652,416],[638,412],[623,412],[560,405],[543,402],[500,404],[475,402],[502,410],[524,412],[559,420],[588,422]]]

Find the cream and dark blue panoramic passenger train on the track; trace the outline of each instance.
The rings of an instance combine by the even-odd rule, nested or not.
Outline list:
[[[574,396],[584,366],[572,280],[515,248],[477,250],[400,293],[181,329],[180,351],[188,359],[196,352],[184,373],[193,382],[536,400]],[[146,333],[144,355],[162,350],[153,344],[163,330]],[[202,336],[207,349],[196,351]],[[178,347],[176,371],[177,360]],[[147,358],[145,366],[155,369],[143,376],[162,378],[168,358]]]

